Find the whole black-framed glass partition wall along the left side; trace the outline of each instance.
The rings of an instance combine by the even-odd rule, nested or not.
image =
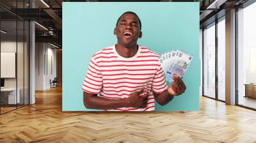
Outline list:
[[[15,8],[25,8],[25,3],[12,1]],[[0,7],[0,29],[0,114],[3,114],[29,104],[29,22]]]

